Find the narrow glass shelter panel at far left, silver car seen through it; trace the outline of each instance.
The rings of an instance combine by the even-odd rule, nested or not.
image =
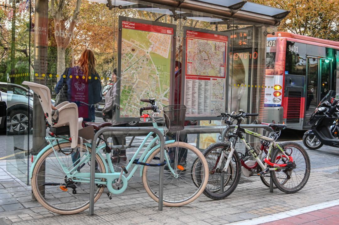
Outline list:
[[[7,29],[12,32],[8,32],[7,37],[10,50],[6,74],[1,77],[1,82],[5,82],[2,83],[3,87],[6,86],[5,89],[1,89],[1,95],[7,102],[7,117],[0,119],[0,125],[6,131],[6,135],[0,135],[3,139],[0,141],[0,158],[6,160],[6,170],[9,173],[27,184],[28,151],[32,144],[33,95],[28,87],[22,86],[21,83],[28,81],[33,72],[33,67],[29,63],[33,55],[30,51],[29,29],[31,5],[26,5],[26,1],[13,1],[6,11],[9,12]]]

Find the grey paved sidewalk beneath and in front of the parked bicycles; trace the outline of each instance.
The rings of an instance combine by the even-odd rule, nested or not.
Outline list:
[[[274,193],[269,193],[269,189],[258,177],[242,177],[234,193],[224,200],[214,201],[201,195],[191,204],[182,207],[164,207],[163,211],[158,211],[157,202],[147,195],[141,179],[135,176],[132,182],[128,183],[128,189],[123,194],[113,196],[112,200],[103,194],[95,204],[95,216],[92,217],[88,216],[88,210],[69,216],[47,211],[38,202],[31,200],[30,186],[6,171],[6,164],[11,162],[0,161],[0,225],[64,223],[72,225],[243,223],[249,225],[268,222],[267,217],[276,215],[284,216],[280,217],[283,218],[280,224],[284,224],[285,220],[290,220],[285,218],[287,216],[300,217],[300,212],[294,214],[295,210],[312,209],[314,205],[326,205],[329,202],[332,204],[331,207],[339,205],[338,150],[329,147],[307,150],[311,159],[311,176],[305,187],[295,194],[284,194],[278,189],[275,189]],[[312,210],[315,209],[318,208]],[[321,217],[317,217],[320,218],[317,219],[320,222]],[[258,218],[257,222],[255,222],[256,218]],[[248,222],[250,220],[251,223]],[[273,224],[272,220],[268,224]],[[293,223],[289,224],[293,225]]]

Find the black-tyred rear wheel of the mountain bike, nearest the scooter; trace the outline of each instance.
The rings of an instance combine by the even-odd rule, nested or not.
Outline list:
[[[291,194],[301,190],[307,183],[311,172],[311,162],[306,150],[296,142],[285,142],[282,144],[285,153],[292,156],[294,168],[279,169],[271,171],[273,182],[282,192]],[[282,156],[280,149],[276,148],[271,156],[275,164],[284,164],[288,160]]]

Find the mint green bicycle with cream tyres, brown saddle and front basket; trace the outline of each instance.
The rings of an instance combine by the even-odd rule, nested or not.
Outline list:
[[[144,110],[153,112],[141,115],[140,120],[144,122],[152,120],[154,128],[164,133],[164,129],[158,128],[155,119],[161,113],[155,99],[141,99],[141,101],[149,103],[149,106],[141,108],[140,115]],[[167,107],[169,113],[164,113],[166,126],[168,130],[171,130],[171,126],[177,129],[178,122],[180,123],[176,117],[177,105]],[[95,130],[110,126],[109,123],[87,123],[86,125],[93,126]],[[81,141],[76,148],[71,148],[67,135],[69,131],[60,130],[61,128],[58,130],[52,127],[51,137],[46,137],[48,145],[37,156],[32,157],[30,177],[32,191],[38,202],[52,212],[66,215],[81,212],[89,207],[91,144],[85,143],[85,140],[80,138]],[[146,192],[152,199],[159,201],[157,195],[159,166],[165,164],[164,205],[182,206],[194,201],[203,192],[208,180],[208,165],[202,153],[190,144],[169,140],[165,142],[165,162],[161,163],[159,137],[154,138],[147,147],[145,146],[152,134],[151,132],[145,137],[126,167],[121,166],[121,171],[114,170],[109,154],[111,148],[100,137],[96,147],[95,202],[105,188],[111,194],[123,193],[138,168]],[[144,147],[146,148],[142,152]],[[141,156],[137,158],[139,153]],[[194,175],[191,174],[193,163],[198,165],[195,166]],[[198,178],[196,184],[192,181],[192,176]],[[109,194],[110,198],[111,194]]]

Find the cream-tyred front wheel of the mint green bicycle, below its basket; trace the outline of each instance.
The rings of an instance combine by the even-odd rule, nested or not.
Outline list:
[[[205,157],[194,146],[178,141],[166,144],[165,154],[170,163],[164,166],[163,204],[182,206],[194,201],[201,195],[207,184],[208,166]],[[159,158],[160,148],[147,158],[146,163],[159,163]],[[194,171],[192,171],[193,163],[198,165]],[[170,168],[175,171],[175,175]],[[197,185],[192,181],[191,173],[197,177]],[[144,166],[142,182],[148,195],[159,202],[159,167]]]

